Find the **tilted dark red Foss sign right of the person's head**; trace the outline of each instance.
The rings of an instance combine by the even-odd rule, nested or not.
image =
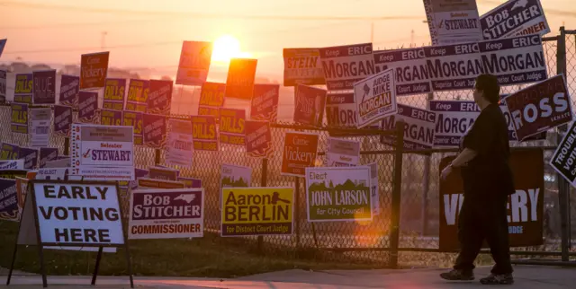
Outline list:
[[[572,106],[563,74],[536,83],[504,99],[518,141],[572,121]]]

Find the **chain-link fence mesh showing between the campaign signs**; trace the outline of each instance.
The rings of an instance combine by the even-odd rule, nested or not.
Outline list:
[[[549,76],[564,72],[572,95],[576,91],[576,32],[563,31],[558,37],[544,39],[546,64]],[[560,49],[559,49],[560,48]],[[559,63],[560,60],[560,63]],[[502,92],[516,92],[527,85],[514,85],[502,88]],[[401,97],[400,103],[415,107],[427,108],[429,100],[472,100],[471,91],[438,92],[427,95]],[[576,100],[572,99],[572,106]],[[76,120],[76,113],[74,113]],[[178,116],[174,116],[177,118]],[[29,137],[14,134],[8,124],[11,121],[9,106],[0,107],[0,120],[5,125],[0,127],[0,140],[14,145],[28,145]],[[50,128],[52,129],[52,128]],[[401,160],[394,157],[394,149],[382,145],[380,136],[344,136],[361,143],[362,164],[378,163],[379,204],[380,215],[374,216],[372,222],[334,222],[309,223],[305,211],[305,187],[302,178],[282,176],[280,174],[284,135],[286,131],[314,132],[320,135],[320,151],[327,147],[329,129],[299,127],[292,124],[276,123],[272,125],[272,138],[275,146],[274,155],[267,160],[255,159],[246,155],[245,149],[237,145],[220,145],[219,152],[196,151],[193,154],[193,168],[177,168],[180,176],[202,179],[202,187],[206,192],[204,224],[208,232],[219,233],[220,230],[220,168],[223,163],[231,163],[251,167],[252,187],[294,187],[296,189],[296,204],[294,211],[294,233],[290,236],[242,237],[257,244],[259,250],[274,253],[278,250],[297,250],[312,258],[329,258],[340,262],[361,261],[374,264],[391,264],[395,266],[400,249],[399,261],[402,265],[443,265],[453,258],[452,254],[438,253],[439,232],[439,199],[438,176],[439,162],[446,153],[431,153],[428,155],[404,153]],[[342,136],[339,136],[342,137]],[[571,199],[563,199],[562,186],[558,185],[559,177],[547,164],[552,156],[552,148],[557,142],[557,133],[548,132],[543,141],[514,146],[548,146],[545,150],[545,245],[537,248],[517,248],[518,253],[536,251],[560,254],[561,237],[570,230],[576,232],[576,222],[571,223],[571,215],[576,215],[576,206],[570,206]],[[59,153],[65,153],[65,137],[53,136],[50,146],[58,147]],[[155,164],[164,164],[164,151],[144,146],[135,148],[135,162],[139,168],[147,169]],[[394,195],[395,165],[401,161],[396,177],[401,177],[401,183]],[[320,152],[316,165],[326,162],[325,154]],[[573,188],[572,188],[573,189]],[[576,194],[570,194],[576,202]],[[394,203],[394,202],[396,203]],[[392,204],[397,204],[392,206]],[[568,212],[561,215],[561,207]],[[127,206],[127,198],[124,199]],[[572,211],[571,211],[572,210]],[[400,211],[400,212],[398,212]],[[395,214],[397,213],[397,214]],[[571,214],[572,213],[572,214]],[[563,221],[564,220],[564,221]],[[572,219],[572,221],[574,221]],[[563,223],[564,222],[564,223]],[[562,225],[568,223],[567,230],[562,231]],[[570,239],[568,237],[568,239]],[[391,253],[392,251],[392,253]],[[310,257],[310,256],[309,256]],[[392,258],[391,258],[392,257]]]

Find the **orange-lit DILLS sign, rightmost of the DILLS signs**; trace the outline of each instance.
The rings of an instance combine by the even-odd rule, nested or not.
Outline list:
[[[245,128],[245,109],[220,109],[220,144],[246,145]]]

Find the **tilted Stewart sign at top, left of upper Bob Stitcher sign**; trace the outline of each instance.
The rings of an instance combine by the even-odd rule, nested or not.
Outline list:
[[[424,0],[432,45],[482,40],[476,0]]]

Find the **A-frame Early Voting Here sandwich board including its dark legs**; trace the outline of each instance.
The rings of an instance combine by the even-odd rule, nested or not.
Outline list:
[[[124,248],[132,285],[130,253],[116,184],[59,180],[30,182],[14,248],[17,250],[17,245],[40,247],[40,272],[44,287],[47,286],[42,253],[45,246],[99,247],[92,285],[95,284],[103,247]],[[14,260],[12,264],[14,266]],[[10,276],[6,283],[10,283]]]

